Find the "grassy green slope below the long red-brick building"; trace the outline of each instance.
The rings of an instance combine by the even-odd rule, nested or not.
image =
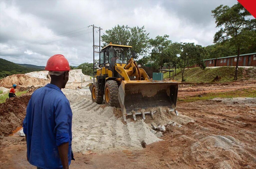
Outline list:
[[[243,80],[247,78],[256,78],[255,73],[250,73],[250,76],[243,76],[244,68],[238,68],[238,80]],[[256,68],[249,68],[250,72],[255,72]],[[219,76],[221,79],[218,82],[228,82],[232,81],[234,78],[235,67],[219,67],[219,68],[206,68],[205,70],[196,67],[196,68],[189,68],[186,69],[184,72],[185,82],[192,82],[192,83],[210,83],[212,80]],[[248,70],[245,71],[246,73],[249,72]],[[169,73],[164,74],[164,78],[168,78]],[[177,69],[175,80],[181,81],[182,74],[180,69]]]

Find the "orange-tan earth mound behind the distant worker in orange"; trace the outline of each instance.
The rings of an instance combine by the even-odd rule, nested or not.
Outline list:
[[[11,76],[7,76],[0,80],[0,86],[10,88],[13,84],[16,84],[18,86],[44,86],[47,83],[49,83],[49,80],[46,79],[39,79],[35,77],[30,77],[28,75],[24,74],[15,74]]]

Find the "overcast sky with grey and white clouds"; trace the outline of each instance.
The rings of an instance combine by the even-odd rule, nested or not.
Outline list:
[[[201,1],[0,1],[0,57],[44,66],[54,54],[70,65],[92,62],[92,27],[145,26],[151,38],[212,44],[211,10],[236,0]],[[74,31],[76,30],[76,31]],[[69,32],[69,33],[67,33]],[[66,34],[65,34],[66,33]],[[95,40],[99,39],[95,32]]]

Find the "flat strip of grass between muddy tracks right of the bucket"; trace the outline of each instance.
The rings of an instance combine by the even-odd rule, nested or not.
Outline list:
[[[256,90],[253,89],[243,89],[243,90],[234,90],[220,93],[207,93],[202,95],[202,97],[198,96],[188,96],[186,98],[178,98],[178,101],[181,102],[194,102],[198,100],[210,100],[214,98],[235,98],[235,97],[256,97]]]

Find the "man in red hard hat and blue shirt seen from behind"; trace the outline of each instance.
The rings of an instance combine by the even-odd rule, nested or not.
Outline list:
[[[51,82],[32,94],[23,121],[27,160],[37,168],[68,168],[73,159],[72,111],[61,91],[68,81],[68,60],[54,55],[45,69],[49,70]]]

